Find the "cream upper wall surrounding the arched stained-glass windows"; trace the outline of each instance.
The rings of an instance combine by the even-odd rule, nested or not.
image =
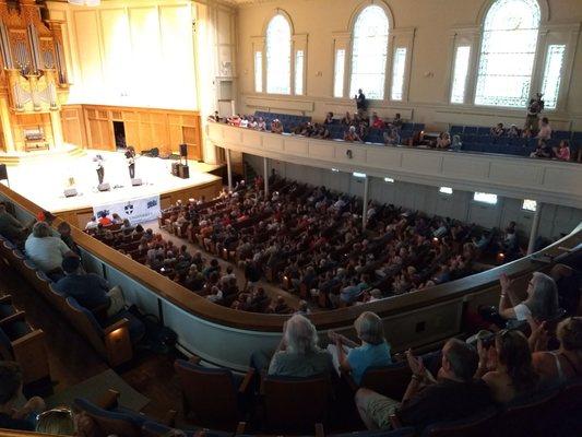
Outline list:
[[[397,46],[408,48],[409,71],[405,78],[407,101],[373,102],[381,116],[395,111],[412,115],[415,121],[430,127],[446,123],[492,126],[494,122],[522,125],[524,109],[507,110],[490,107],[450,105],[449,88],[456,42],[472,40],[473,51],[479,45],[483,15],[491,0],[274,0],[248,2],[238,10],[238,71],[240,110],[252,113],[259,108],[289,114],[305,113],[322,119],[325,111],[336,114],[355,110],[347,98],[333,97],[334,47],[345,47],[349,52],[349,37],[355,13],[366,4],[385,4],[393,17],[391,38]],[[544,44],[566,43],[566,69],[572,72],[562,87],[569,92],[557,111],[547,111],[559,129],[582,130],[582,1],[538,0],[543,10],[536,78],[543,73]],[[253,45],[262,42],[269,20],[283,11],[292,21],[293,32],[307,40],[306,95],[281,96],[256,93],[253,87]],[[394,44],[393,42],[391,44]],[[394,47],[392,45],[391,47]],[[389,52],[389,58],[392,52]],[[264,57],[264,56],[263,56]],[[474,64],[476,66],[476,64]],[[472,69],[473,72],[476,68]],[[347,70],[346,70],[347,73]],[[470,80],[474,80],[471,79]],[[536,80],[539,82],[539,80]],[[471,86],[472,88],[474,86]],[[539,87],[534,83],[533,87]],[[537,90],[532,90],[535,92]],[[566,91],[566,90],[565,90]]]

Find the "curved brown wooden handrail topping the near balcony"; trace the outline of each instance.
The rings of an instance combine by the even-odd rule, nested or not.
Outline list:
[[[36,213],[41,210],[28,199],[1,184],[0,194],[10,201],[17,203],[32,215],[36,215]],[[59,218],[56,221],[56,224],[58,223],[60,223]],[[74,240],[84,250],[97,256],[104,262],[107,262],[123,274],[140,282],[156,293],[159,297],[167,299],[194,316],[230,328],[263,332],[281,332],[284,321],[289,317],[239,311],[213,304],[150,268],[129,259],[116,249],[98,241],[81,229],[74,226],[71,226],[71,228]],[[554,243],[541,252],[535,253],[535,256],[539,257],[543,253],[557,256],[562,253],[563,248],[571,249],[581,243],[582,223],[580,223],[570,235]],[[442,302],[459,299],[477,291],[485,292],[487,290],[495,290],[498,287],[498,279],[501,273],[507,273],[510,276],[521,276],[539,269],[542,265],[544,265],[544,263],[534,260],[530,256],[486,272],[437,285],[430,290],[407,293],[394,298],[381,299],[375,303],[316,312],[310,315],[309,318],[319,330],[325,330],[351,326],[353,320],[363,311],[372,310],[382,318],[390,317]]]

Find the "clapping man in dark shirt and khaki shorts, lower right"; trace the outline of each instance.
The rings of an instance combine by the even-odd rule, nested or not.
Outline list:
[[[420,432],[432,423],[460,420],[492,405],[487,385],[473,379],[479,358],[465,342],[451,339],[444,344],[437,379],[411,351],[406,358],[413,376],[402,402],[366,388],[356,392],[358,413],[368,429],[390,429],[394,414],[402,426]]]

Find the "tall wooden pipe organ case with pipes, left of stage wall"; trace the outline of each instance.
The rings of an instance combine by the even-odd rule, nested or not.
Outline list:
[[[0,0],[1,150],[59,147],[60,94],[68,92],[62,33],[35,0]]]

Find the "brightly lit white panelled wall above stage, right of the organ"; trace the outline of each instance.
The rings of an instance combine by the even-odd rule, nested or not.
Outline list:
[[[51,15],[66,17],[72,82],[67,103],[198,108],[190,1],[48,7]]]

